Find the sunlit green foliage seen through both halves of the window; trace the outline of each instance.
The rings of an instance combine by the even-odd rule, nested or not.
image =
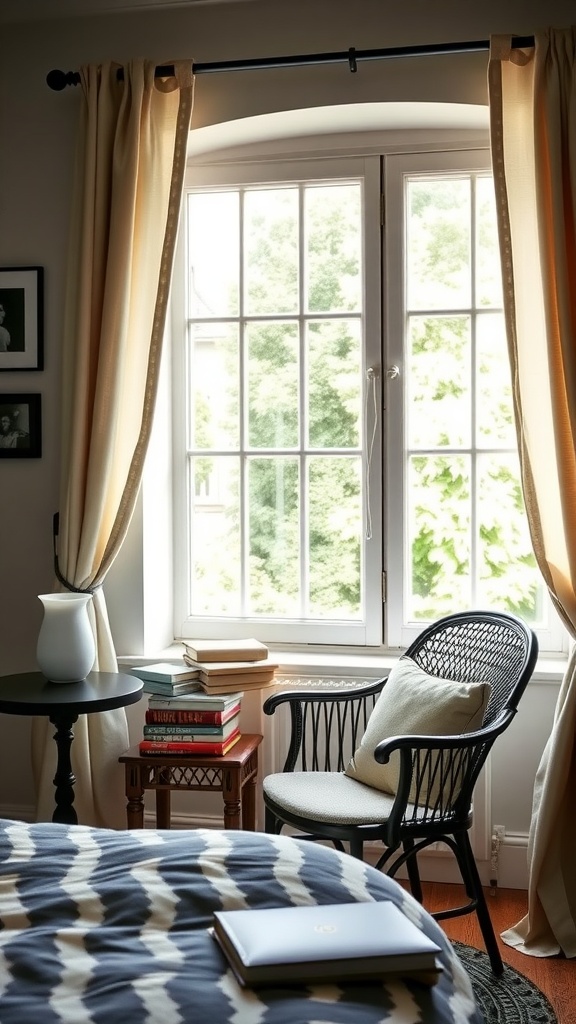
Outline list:
[[[408,200],[409,614],[433,620],[468,606],[474,595],[478,604],[535,620],[539,589],[513,452],[491,194],[481,181],[475,201],[465,175],[420,178]],[[249,614],[361,614],[360,214],[357,184],[308,186],[303,199],[294,186],[246,196],[236,275],[244,281],[244,347],[222,322],[227,383],[217,413],[202,399],[202,382],[197,397],[197,447],[209,453],[224,437],[235,450],[243,393],[249,450],[245,492],[237,456],[197,459],[197,489],[217,465],[228,481],[224,521],[214,526],[212,518],[210,526],[206,517],[215,540],[197,565],[207,609],[239,613],[245,544]],[[238,304],[236,287],[229,308]],[[475,444],[486,454],[472,458]]]

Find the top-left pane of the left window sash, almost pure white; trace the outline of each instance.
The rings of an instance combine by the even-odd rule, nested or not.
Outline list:
[[[238,191],[189,196],[189,316],[234,316],[239,298]]]

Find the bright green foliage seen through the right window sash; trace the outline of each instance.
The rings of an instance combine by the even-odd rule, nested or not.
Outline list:
[[[495,263],[494,215],[482,182],[479,194],[477,291],[480,301],[488,304],[490,297],[499,297],[487,270],[490,257]],[[465,308],[471,294],[471,182],[418,180],[411,182],[409,196],[411,305],[416,310]],[[531,621],[539,610],[516,455],[480,456],[474,463],[466,452],[475,430],[488,451],[513,444],[501,314],[483,315],[411,317],[408,417],[414,454],[408,501],[416,618],[430,620],[467,606],[472,594],[485,607],[507,608]],[[435,449],[454,454],[439,456]],[[418,450],[421,455],[415,454]]]

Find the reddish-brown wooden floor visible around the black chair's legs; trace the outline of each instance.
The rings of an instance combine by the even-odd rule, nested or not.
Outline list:
[[[424,906],[430,912],[465,902],[460,886],[425,882],[422,888]],[[500,932],[511,928],[526,913],[525,890],[497,889],[494,895],[486,891],[486,898],[504,963],[530,978],[545,993],[554,1008],[558,1024],[576,1024],[576,959],[527,956],[502,942]],[[450,939],[485,948],[476,913],[442,921],[440,925]]]

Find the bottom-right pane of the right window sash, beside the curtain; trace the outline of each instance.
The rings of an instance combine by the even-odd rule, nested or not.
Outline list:
[[[479,459],[479,602],[542,622],[542,588],[524,511],[516,455]]]

